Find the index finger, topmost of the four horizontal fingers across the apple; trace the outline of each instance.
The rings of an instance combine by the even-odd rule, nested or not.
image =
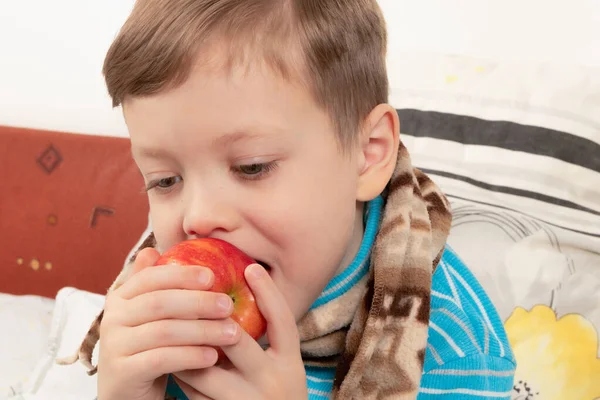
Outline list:
[[[118,289],[118,293],[123,299],[129,300],[143,293],[164,289],[209,290],[213,283],[214,274],[208,268],[161,265],[143,268],[135,273]]]

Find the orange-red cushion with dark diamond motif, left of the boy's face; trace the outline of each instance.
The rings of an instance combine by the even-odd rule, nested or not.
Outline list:
[[[126,138],[0,126],[0,292],[106,290],[148,203]]]

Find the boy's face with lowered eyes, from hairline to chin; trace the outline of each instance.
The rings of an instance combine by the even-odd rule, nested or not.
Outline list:
[[[129,99],[134,158],[159,251],[226,240],[270,266],[299,319],[356,254],[356,152],[340,152],[309,93],[268,68],[196,69],[181,87]]]

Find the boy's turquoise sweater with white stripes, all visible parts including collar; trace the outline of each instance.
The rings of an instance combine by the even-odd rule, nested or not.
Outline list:
[[[369,272],[383,207],[367,204],[365,234],[354,261],[315,301],[319,307],[341,296]],[[446,247],[432,277],[429,337],[419,400],[510,399],[515,359],[503,324],[485,291],[454,251]],[[329,399],[335,369],[306,367],[309,400]],[[169,393],[187,399],[175,385]]]

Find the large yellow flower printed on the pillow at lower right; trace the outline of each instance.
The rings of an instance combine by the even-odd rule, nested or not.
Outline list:
[[[505,328],[517,359],[513,400],[600,398],[598,332],[583,316],[517,307]]]

